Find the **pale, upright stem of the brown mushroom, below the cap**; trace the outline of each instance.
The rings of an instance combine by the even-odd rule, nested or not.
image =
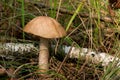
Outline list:
[[[40,39],[40,52],[39,52],[39,72],[46,72],[48,70],[48,59],[49,59],[49,50],[48,50],[48,40],[45,38]]]

